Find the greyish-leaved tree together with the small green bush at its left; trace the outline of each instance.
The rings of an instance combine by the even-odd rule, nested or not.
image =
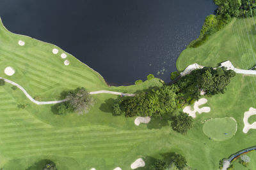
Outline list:
[[[82,87],[67,93],[65,102],[57,104],[58,114],[64,115],[76,111],[85,113],[93,105],[92,96]]]

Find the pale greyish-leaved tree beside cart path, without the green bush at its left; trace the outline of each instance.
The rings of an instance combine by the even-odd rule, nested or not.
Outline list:
[[[92,96],[82,87],[68,92],[67,106],[74,108],[77,113],[85,113],[93,105]]]

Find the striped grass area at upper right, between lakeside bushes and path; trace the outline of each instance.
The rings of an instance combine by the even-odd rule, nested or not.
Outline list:
[[[176,66],[179,71],[189,64],[216,67],[230,60],[235,67],[250,69],[256,60],[256,17],[233,18],[232,22],[216,32],[198,48],[187,48],[180,53]]]

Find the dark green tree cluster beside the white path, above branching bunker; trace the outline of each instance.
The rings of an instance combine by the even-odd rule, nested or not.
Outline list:
[[[225,87],[230,83],[230,79],[236,73],[232,70],[227,70],[225,67],[204,67],[195,69],[190,74],[183,76],[177,81],[180,92],[185,96],[190,96],[198,99],[200,91],[204,90],[205,94],[214,95],[224,93]]]

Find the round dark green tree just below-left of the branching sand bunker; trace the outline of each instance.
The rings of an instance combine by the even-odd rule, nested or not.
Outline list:
[[[173,131],[186,134],[193,127],[193,118],[180,111],[179,115],[173,117],[171,126]]]

